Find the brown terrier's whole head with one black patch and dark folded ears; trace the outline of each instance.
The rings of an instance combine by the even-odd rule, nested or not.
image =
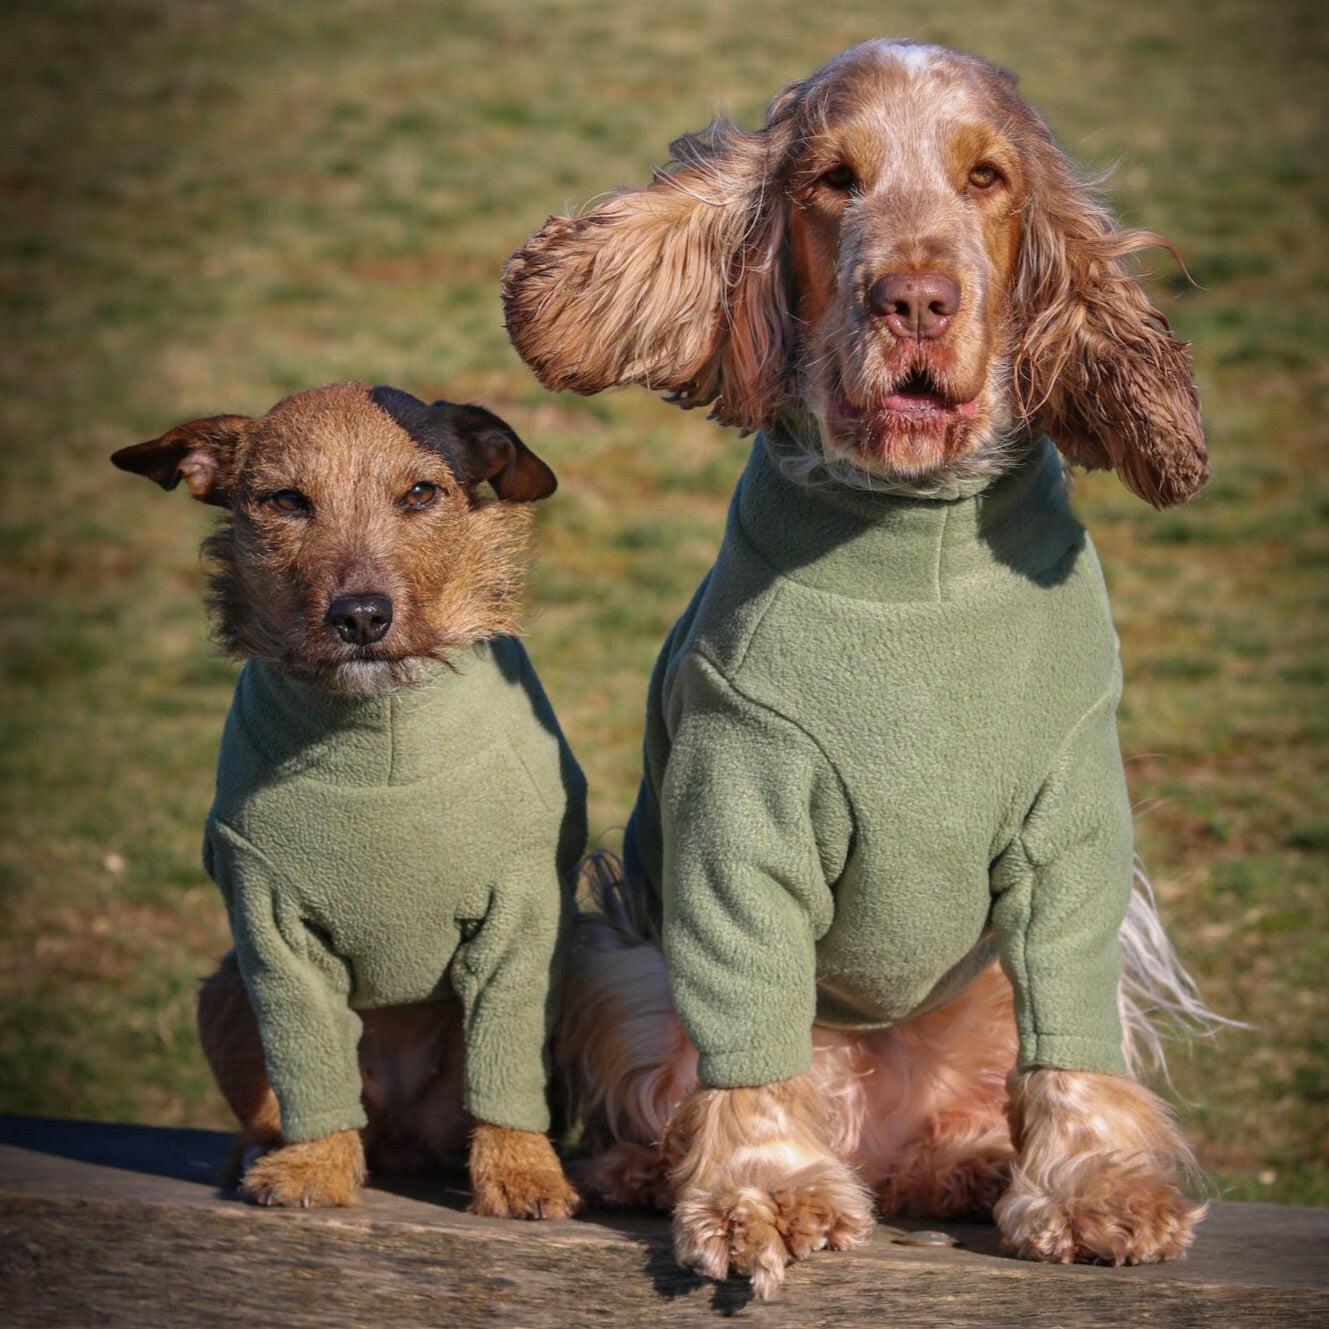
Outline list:
[[[517,505],[556,484],[489,411],[364,384],[195,420],[112,461],[229,509],[203,548],[230,651],[350,694],[513,630]],[[478,497],[484,481],[498,501]]]

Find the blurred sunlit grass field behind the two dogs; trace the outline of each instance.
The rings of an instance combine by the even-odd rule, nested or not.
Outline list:
[[[1140,849],[1203,990],[1179,1049],[1219,1193],[1329,1203],[1329,36],[1317,0],[35,4],[0,17],[0,1110],[222,1126],[191,1023],[234,667],[209,514],[106,455],[331,379],[505,415],[560,472],[529,645],[614,844],[651,661],[747,444],[645,393],[542,392],[497,276],[679,130],[868,36],[1022,74],[1195,342],[1213,482],[1076,486],[1127,670]]]

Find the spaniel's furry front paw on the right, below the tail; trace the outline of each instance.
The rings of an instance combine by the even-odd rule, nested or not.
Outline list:
[[[993,1217],[1002,1247],[1053,1264],[1156,1264],[1185,1253],[1205,1205],[1148,1160],[1106,1155],[1067,1163],[1047,1185],[1017,1168]]]

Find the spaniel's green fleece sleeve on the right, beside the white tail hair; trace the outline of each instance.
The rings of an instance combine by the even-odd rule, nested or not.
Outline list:
[[[993,874],[993,922],[1015,990],[1021,1070],[1126,1070],[1118,932],[1134,857],[1118,691],[1070,732]]]

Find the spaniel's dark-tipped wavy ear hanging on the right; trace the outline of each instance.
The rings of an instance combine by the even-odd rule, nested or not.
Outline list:
[[[1123,262],[1175,250],[1116,230],[1046,132],[1031,165],[1014,286],[1026,413],[1070,461],[1114,468],[1155,508],[1184,502],[1209,474],[1188,346]]]

